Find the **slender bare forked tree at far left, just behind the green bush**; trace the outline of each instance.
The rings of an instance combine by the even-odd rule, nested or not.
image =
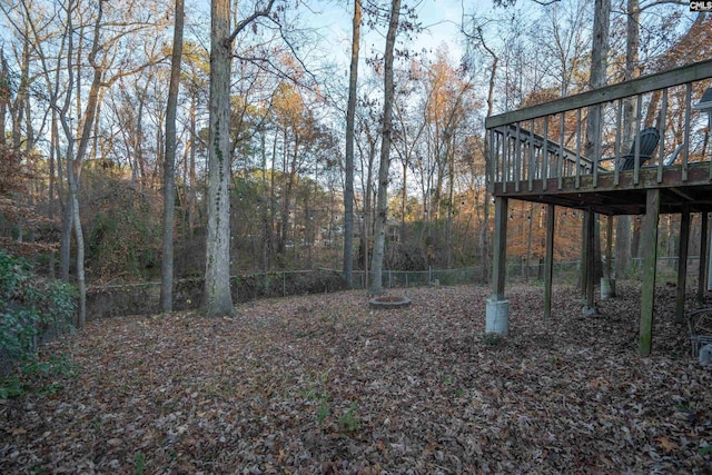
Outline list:
[[[20,2],[19,7],[23,18],[28,19],[30,26],[34,28],[32,16],[36,11],[28,2]],[[62,277],[68,278],[70,232],[73,231],[77,284],[80,294],[79,327],[82,327],[86,321],[85,239],[79,212],[79,179],[82,162],[96,150],[92,144],[97,140],[97,121],[103,91],[119,79],[131,76],[146,66],[145,62],[134,62],[132,53],[127,48],[122,48],[121,41],[128,34],[138,33],[142,29],[160,28],[160,24],[149,23],[138,18],[140,16],[138,7],[136,2],[130,2],[122,6],[119,12],[106,1],[82,3],[77,0],[67,0],[59,6],[57,14],[52,18],[52,21],[58,24],[57,37],[60,41],[59,48],[53,50],[56,56],[50,58],[42,42],[30,42],[40,60],[41,76],[44,77],[47,85],[47,90],[38,90],[34,93],[47,100],[57,113],[65,136],[66,172],[69,186],[65,205],[61,267]],[[136,16],[134,18],[136,21],[131,23],[126,19],[119,20],[118,14]],[[109,24],[112,28],[111,32],[109,32]],[[21,32],[22,29],[18,28],[18,31]],[[52,75],[55,75],[53,80]],[[85,79],[88,85],[85,85]],[[76,112],[76,116],[72,112]]]

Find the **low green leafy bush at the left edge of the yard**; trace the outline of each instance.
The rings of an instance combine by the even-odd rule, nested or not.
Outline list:
[[[38,338],[68,329],[76,308],[72,286],[41,278],[26,259],[0,250],[0,358],[34,360]]]

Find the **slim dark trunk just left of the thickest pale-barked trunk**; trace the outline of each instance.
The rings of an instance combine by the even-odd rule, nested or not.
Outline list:
[[[174,215],[176,208],[176,112],[182,56],[184,0],[176,0],[174,50],[170,58],[170,85],[166,105],[166,155],[164,157],[164,243],[160,274],[160,304],[164,311],[174,308]]]

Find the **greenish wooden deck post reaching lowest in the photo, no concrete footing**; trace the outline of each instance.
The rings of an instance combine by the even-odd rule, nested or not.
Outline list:
[[[660,222],[660,189],[649,189],[641,234],[642,293],[641,293],[641,355],[650,355],[653,343],[653,310],[655,306],[655,274],[657,271],[657,226]]]

